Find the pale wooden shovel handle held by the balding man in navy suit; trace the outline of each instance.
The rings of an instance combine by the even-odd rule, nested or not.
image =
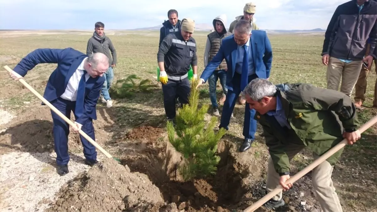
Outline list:
[[[4,66],[5,70],[9,73],[14,72],[11,68],[8,66]],[[22,83],[27,89],[29,89],[34,95],[36,95],[44,104],[46,104],[52,111],[54,111],[60,118],[63,118],[64,121],[66,121],[71,127],[76,128],[76,124],[74,124],[69,118],[67,118],[65,115],[63,115],[58,109],[56,109],[51,103],[49,103],[43,96],[41,96],[37,91],[34,90],[28,83],[25,82],[22,78],[19,79],[20,83]],[[106,157],[112,158],[112,156],[104,150],[100,145],[98,145],[92,138],[90,138],[85,132],[82,130],[78,131],[80,135],[82,135],[86,140],[88,140],[93,146],[95,146],[98,150],[100,150]]]

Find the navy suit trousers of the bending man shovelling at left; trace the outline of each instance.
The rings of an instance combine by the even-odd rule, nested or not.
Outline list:
[[[63,98],[57,98],[52,101],[51,104],[63,113],[67,118],[70,118],[70,112],[73,111],[75,118],[75,106],[76,101],[64,100]],[[66,123],[60,116],[58,116],[54,111],[51,110],[52,120],[54,122],[54,144],[56,152],[56,163],[58,166],[66,165],[69,161],[68,154],[68,134],[69,134],[69,124]],[[81,130],[85,132],[90,138],[95,140],[94,137],[94,127],[92,118],[81,127]],[[95,146],[93,146],[88,140],[86,140],[82,135],[80,135],[81,143],[84,147],[84,156],[89,161],[95,161],[97,159],[97,152]]]

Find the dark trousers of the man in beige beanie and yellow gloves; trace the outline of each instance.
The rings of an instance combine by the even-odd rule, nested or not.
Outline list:
[[[182,104],[189,103],[190,81],[189,78],[182,80],[168,80],[166,84],[162,84],[162,92],[164,93],[164,108],[168,119],[175,118],[175,98],[179,97]]]

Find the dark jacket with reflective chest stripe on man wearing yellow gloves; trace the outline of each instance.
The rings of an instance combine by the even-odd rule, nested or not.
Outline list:
[[[158,49],[157,61],[164,62],[166,74],[170,76],[187,74],[190,65],[198,65],[195,39],[190,37],[184,41],[180,30],[167,35]]]

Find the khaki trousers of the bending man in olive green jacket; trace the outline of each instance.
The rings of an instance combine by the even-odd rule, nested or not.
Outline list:
[[[286,152],[289,160],[299,153],[305,146],[290,144],[287,148],[290,152]],[[319,156],[313,153],[314,159]],[[331,180],[331,174],[333,172],[333,166],[327,161],[323,161],[317,167],[315,167],[311,174],[311,180],[316,194],[317,200],[322,207],[323,212],[342,212],[342,206],[340,205],[338,195],[335,192],[333,181]],[[267,192],[271,192],[277,186],[279,186],[279,174],[275,171],[273,161],[271,157],[268,159],[268,173],[267,173]],[[280,200],[282,198],[282,192],[274,196],[273,200]]]

